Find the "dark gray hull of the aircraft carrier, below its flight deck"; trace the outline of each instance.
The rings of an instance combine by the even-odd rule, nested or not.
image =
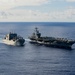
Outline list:
[[[39,41],[38,39],[32,40],[32,38],[30,38],[30,43],[36,45],[44,45],[46,47],[71,49],[75,41],[58,41],[58,40],[50,41],[50,39],[48,39],[47,41],[45,39]]]

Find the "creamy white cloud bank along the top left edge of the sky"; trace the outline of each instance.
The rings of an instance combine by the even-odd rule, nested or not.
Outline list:
[[[48,3],[48,0],[0,0],[0,10],[18,6],[38,6]]]

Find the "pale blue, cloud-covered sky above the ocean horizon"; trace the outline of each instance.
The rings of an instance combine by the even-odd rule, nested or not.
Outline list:
[[[75,22],[75,0],[0,0],[0,22]]]

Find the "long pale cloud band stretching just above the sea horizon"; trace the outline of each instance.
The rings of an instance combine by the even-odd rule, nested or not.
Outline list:
[[[74,21],[75,8],[69,8],[64,11],[40,12],[33,10],[9,10],[0,12],[0,21],[13,22],[50,22],[50,21]]]

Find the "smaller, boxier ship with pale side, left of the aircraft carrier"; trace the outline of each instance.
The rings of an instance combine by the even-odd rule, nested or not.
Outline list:
[[[23,46],[25,40],[23,37],[18,36],[16,33],[9,33],[3,38],[3,43],[7,45],[14,45],[14,46]]]

